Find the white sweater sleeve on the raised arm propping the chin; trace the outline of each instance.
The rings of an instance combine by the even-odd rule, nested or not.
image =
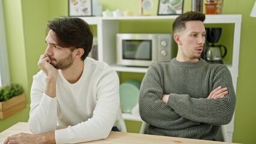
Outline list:
[[[28,126],[33,134],[56,130],[57,101],[44,94],[46,88],[43,71],[33,77]],[[46,77],[46,76],[45,76]],[[46,77],[47,79],[47,77]]]

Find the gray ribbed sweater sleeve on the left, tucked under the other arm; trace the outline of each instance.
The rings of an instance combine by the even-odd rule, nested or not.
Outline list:
[[[157,64],[152,64],[142,81],[139,94],[139,113],[143,121],[154,127],[168,130],[199,125],[200,122],[184,118],[166,105],[162,100],[163,77]]]

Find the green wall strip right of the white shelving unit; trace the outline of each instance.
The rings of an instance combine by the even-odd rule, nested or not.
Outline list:
[[[242,14],[239,54],[239,77],[237,80],[237,104],[234,119],[233,142],[256,143],[256,17],[249,17],[254,0],[224,1],[224,14]]]

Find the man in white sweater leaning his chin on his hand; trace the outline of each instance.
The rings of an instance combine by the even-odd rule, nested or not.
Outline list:
[[[93,44],[82,19],[61,17],[47,25],[47,49],[31,86],[29,129],[5,143],[79,143],[118,130],[119,79],[105,62],[88,58]],[[119,119],[118,119],[119,120]],[[65,126],[58,129],[57,125]],[[117,126],[117,127],[115,127]]]

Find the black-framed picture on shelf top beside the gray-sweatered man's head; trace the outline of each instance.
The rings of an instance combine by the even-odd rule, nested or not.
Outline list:
[[[182,14],[183,2],[183,0],[159,0],[157,15]]]

